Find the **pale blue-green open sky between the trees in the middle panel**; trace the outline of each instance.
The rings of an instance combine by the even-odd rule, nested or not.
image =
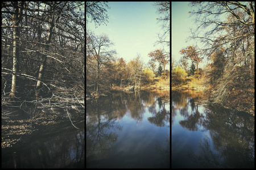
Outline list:
[[[162,31],[156,20],[159,14],[152,4],[153,2],[108,2],[109,23],[95,28],[92,22],[88,23],[86,28],[97,35],[108,35],[115,44],[113,48],[118,53],[117,57],[123,57],[129,62],[137,57],[138,53],[146,64],[150,59],[148,53],[163,48],[163,45],[155,45],[157,34]],[[165,49],[169,52],[170,47],[166,46]]]

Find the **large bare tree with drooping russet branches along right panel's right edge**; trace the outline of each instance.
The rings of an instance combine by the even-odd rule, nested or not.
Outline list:
[[[210,60],[208,82],[216,103],[254,101],[254,2],[191,2],[200,40]],[[232,99],[232,100],[229,100]]]

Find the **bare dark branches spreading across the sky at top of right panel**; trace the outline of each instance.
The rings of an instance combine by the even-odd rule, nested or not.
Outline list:
[[[238,39],[254,37],[254,2],[191,2],[191,6],[198,7],[191,15],[196,16],[195,22],[199,23],[199,27],[191,31],[191,38],[204,43],[207,56],[221,45],[226,44],[228,49]],[[224,20],[228,15],[235,20]],[[224,28],[231,26],[236,26],[237,30],[227,33]],[[242,32],[247,29],[246,34]],[[233,36],[235,34],[237,36]]]

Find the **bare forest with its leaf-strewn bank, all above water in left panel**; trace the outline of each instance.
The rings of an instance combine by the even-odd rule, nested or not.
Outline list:
[[[65,111],[70,120],[69,113],[84,114],[85,5],[67,1],[1,5],[2,147],[10,147],[35,126],[57,121],[59,112]]]

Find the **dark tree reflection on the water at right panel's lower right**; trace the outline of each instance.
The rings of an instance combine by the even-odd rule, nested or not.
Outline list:
[[[205,113],[207,118],[203,126],[210,130],[210,137],[217,151],[215,160],[221,162],[221,167],[254,167],[254,118],[246,113],[217,106],[208,106]],[[209,150],[207,141],[209,140],[203,142],[203,151]]]

